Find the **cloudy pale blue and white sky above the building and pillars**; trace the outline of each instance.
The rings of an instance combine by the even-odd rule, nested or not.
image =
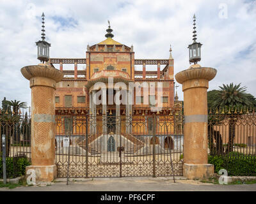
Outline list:
[[[197,41],[203,44],[200,64],[218,70],[209,90],[241,82],[256,96],[255,0],[0,0],[1,101],[30,104],[29,82],[20,69],[39,62],[35,42],[43,11],[52,58],[85,57],[88,44],[105,39],[110,20],[114,40],[133,45],[136,59],[168,59],[172,44],[175,73],[189,67],[195,13]],[[178,93],[183,99],[181,85]]]

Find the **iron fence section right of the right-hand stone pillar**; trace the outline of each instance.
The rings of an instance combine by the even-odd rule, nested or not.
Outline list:
[[[208,115],[209,155],[218,156],[228,175],[256,175],[256,114]]]

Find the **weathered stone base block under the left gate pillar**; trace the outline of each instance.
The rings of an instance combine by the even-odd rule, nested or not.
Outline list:
[[[27,175],[28,170],[35,170],[36,183],[38,182],[52,182],[57,177],[56,165],[51,166],[27,166],[26,167],[26,178],[31,174]]]

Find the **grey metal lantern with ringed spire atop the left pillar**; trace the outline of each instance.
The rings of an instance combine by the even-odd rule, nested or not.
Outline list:
[[[37,46],[37,59],[39,59],[41,62],[47,62],[49,61],[49,52],[50,52],[50,47],[51,44],[45,41],[45,30],[44,30],[44,13],[42,13],[42,40],[39,40],[36,42]]]

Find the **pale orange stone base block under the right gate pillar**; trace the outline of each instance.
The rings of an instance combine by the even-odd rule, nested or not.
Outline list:
[[[184,164],[183,175],[187,179],[207,179],[214,174],[212,164]]]

